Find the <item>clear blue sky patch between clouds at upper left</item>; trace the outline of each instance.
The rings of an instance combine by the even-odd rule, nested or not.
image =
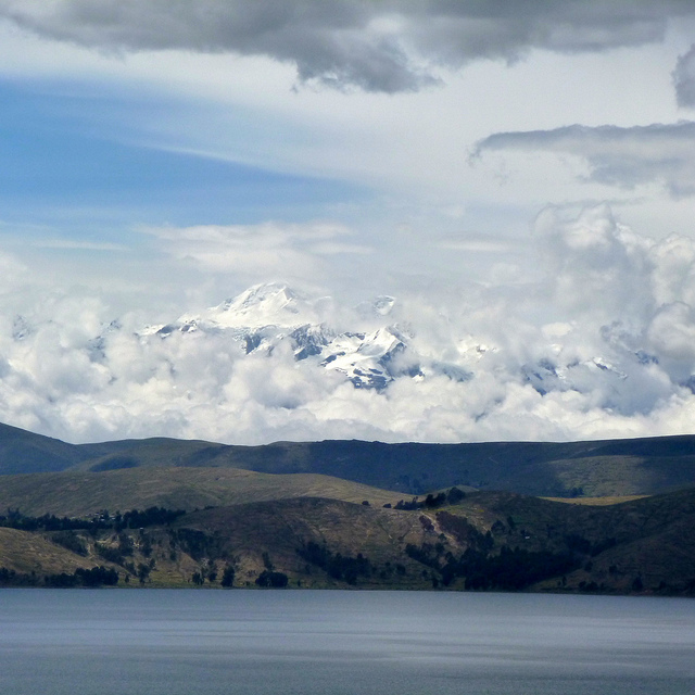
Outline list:
[[[75,241],[117,242],[132,225],[300,220],[309,207],[316,215],[365,197],[349,182],[149,142],[159,118],[185,109],[165,96],[13,80],[0,84],[0,101],[3,220]],[[229,125],[253,137],[243,121],[232,117]]]

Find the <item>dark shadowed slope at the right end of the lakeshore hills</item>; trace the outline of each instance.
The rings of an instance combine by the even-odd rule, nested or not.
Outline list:
[[[568,505],[510,493],[470,495],[458,508],[497,546],[529,552],[573,548],[581,568],[536,590],[688,593],[695,589],[695,490],[611,506]],[[493,528],[493,525],[496,526]],[[582,553],[568,539],[583,539]],[[642,590],[633,586],[639,579]],[[690,586],[690,589],[688,589]]]

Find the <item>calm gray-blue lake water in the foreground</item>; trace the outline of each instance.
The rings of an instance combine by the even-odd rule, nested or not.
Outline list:
[[[692,695],[695,601],[0,590],[3,695]]]

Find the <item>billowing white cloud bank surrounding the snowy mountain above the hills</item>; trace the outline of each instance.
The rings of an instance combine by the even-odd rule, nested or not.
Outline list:
[[[13,315],[8,282],[0,420],[68,441],[453,442],[690,431],[695,243],[637,236],[606,206],[576,218],[547,208],[533,241],[544,271],[523,292],[462,286],[450,298],[382,298],[354,311],[326,299],[279,314],[264,305],[253,314],[263,318],[254,319],[252,341],[239,338],[239,320],[205,328],[206,316],[232,305],[251,316],[243,298],[216,313],[181,307],[185,319],[173,316],[157,332],[135,315],[113,320],[98,300],[67,294],[43,295]],[[26,280],[16,273],[16,282]],[[300,358],[300,333],[291,330],[307,320],[327,338]],[[353,331],[340,333],[344,345],[376,337],[357,355],[368,364],[376,352],[365,351],[377,350],[387,329],[403,345],[383,388],[355,388],[344,371],[327,368],[320,350],[339,331]]]

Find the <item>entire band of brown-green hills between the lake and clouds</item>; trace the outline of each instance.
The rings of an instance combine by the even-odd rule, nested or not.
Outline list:
[[[76,446],[0,426],[0,584],[695,593],[693,437]],[[114,516],[152,507],[187,513]]]

